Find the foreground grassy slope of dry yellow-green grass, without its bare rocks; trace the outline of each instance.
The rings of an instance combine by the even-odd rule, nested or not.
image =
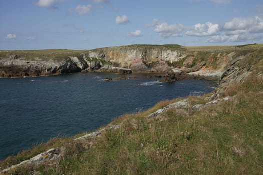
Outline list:
[[[199,112],[170,109],[158,118],[145,117],[180,99],[162,101],[148,111],[116,119],[111,124],[121,123],[121,127],[107,130],[99,138],[54,138],[0,162],[0,169],[49,148],[64,147],[60,162],[20,167],[9,173],[261,174],[263,54],[256,54],[256,63],[261,62],[253,67],[253,74],[224,92],[224,96],[232,96],[229,101]],[[253,55],[249,57],[251,62]],[[210,95],[190,96],[189,103],[204,104]]]

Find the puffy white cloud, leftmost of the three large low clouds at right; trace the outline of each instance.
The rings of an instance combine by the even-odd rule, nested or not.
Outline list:
[[[155,32],[159,33],[159,35],[164,38],[182,36],[183,30],[184,25],[182,24],[168,25],[166,22],[158,24],[154,29]]]

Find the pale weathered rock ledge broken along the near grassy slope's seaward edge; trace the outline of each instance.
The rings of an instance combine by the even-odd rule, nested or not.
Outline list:
[[[262,51],[262,50],[259,50]],[[223,73],[221,74],[220,72],[204,72],[202,75],[206,76],[206,75],[214,75],[214,76],[218,76],[220,77],[220,81],[219,84],[214,92],[214,94],[208,99],[209,102],[205,103],[205,104],[196,104],[194,106],[190,106],[188,103],[188,99],[182,99],[180,101],[177,101],[175,103],[172,103],[166,107],[163,107],[159,110],[157,110],[156,112],[153,112],[145,117],[158,117],[160,116],[162,113],[166,112],[169,109],[180,109],[180,110],[185,110],[187,112],[187,110],[192,110],[193,112],[198,112],[202,109],[204,109],[205,107],[208,106],[216,106],[217,104],[219,104],[220,102],[227,102],[230,101],[233,97],[220,97],[221,93],[223,93],[227,87],[233,83],[236,82],[242,82],[244,81],[247,77],[249,77],[249,75],[252,73],[252,69],[253,67],[261,60],[261,58],[259,59],[251,59],[253,58],[253,54],[257,55],[257,52],[249,52],[249,53],[245,53],[245,54],[241,54],[238,55],[236,57],[231,57],[227,62],[226,62],[226,67],[223,71]],[[69,61],[69,62],[72,62]],[[76,63],[75,63],[76,64]],[[72,65],[72,64],[68,64],[68,65]],[[174,70],[173,73],[182,73],[182,71],[180,70]],[[188,72],[189,73],[189,72]],[[198,74],[200,72],[193,73],[193,74]],[[208,73],[208,74],[206,74]],[[215,73],[215,74],[213,74]],[[200,74],[198,74],[200,75]],[[260,74],[258,74],[258,76],[261,77],[261,72]],[[261,94],[261,91],[259,92]],[[75,139],[75,141],[78,140],[82,140],[82,139],[86,139],[89,137],[99,137],[106,129],[119,129],[121,125],[117,124],[117,125],[112,125],[109,127],[106,127],[104,129],[95,131],[93,133],[89,133],[86,134],[84,136],[81,136],[77,139]],[[25,160],[22,161],[21,163],[17,164],[17,165],[13,165],[11,167],[8,167],[2,171],[0,171],[0,174],[4,174],[5,172],[16,168],[18,166],[22,166],[25,164],[38,164],[38,163],[42,163],[44,161],[48,161],[48,160],[54,160],[54,159],[59,159],[61,156],[61,148],[52,148],[44,153],[41,153],[29,160]]]

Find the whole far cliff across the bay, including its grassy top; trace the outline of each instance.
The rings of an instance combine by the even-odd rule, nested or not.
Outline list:
[[[190,50],[178,45],[130,45],[81,51],[0,51],[0,77],[80,71],[177,72],[179,69],[191,76],[220,78],[226,68],[229,69],[231,64],[234,65],[249,53],[234,47],[225,50]]]

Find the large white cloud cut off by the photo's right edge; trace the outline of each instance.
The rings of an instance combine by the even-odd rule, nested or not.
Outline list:
[[[263,18],[259,16],[251,18],[233,18],[226,22],[223,27],[226,34],[241,34],[241,33],[262,33]]]

